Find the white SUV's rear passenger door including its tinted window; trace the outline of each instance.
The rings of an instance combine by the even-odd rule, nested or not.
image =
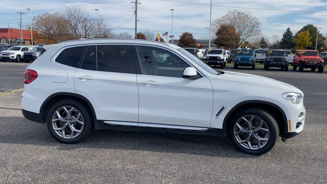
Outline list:
[[[74,76],[76,92],[93,105],[97,119],[138,121],[138,89],[130,44],[88,45]]]

